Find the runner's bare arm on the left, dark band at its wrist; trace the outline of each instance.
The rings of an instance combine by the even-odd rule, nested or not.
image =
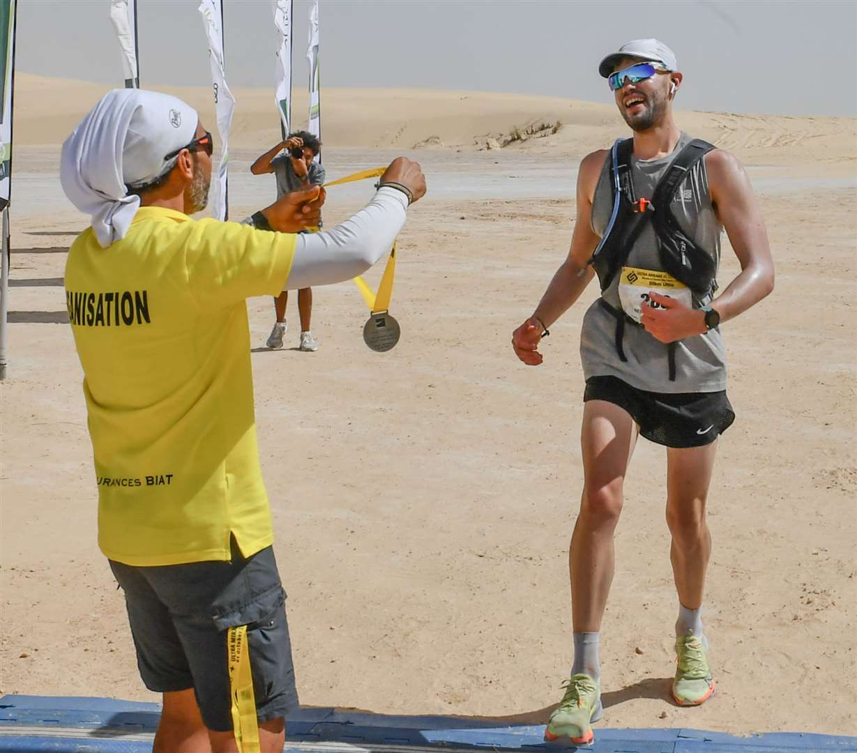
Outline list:
[[[542,300],[530,319],[512,332],[515,355],[529,366],[538,366],[542,354],[538,344],[542,339],[542,326],[549,327],[565,314],[572,303],[590,284],[595,272],[587,265],[598,245],[598,236],[592,230],[592,199],[606,157],[604,151],[592,152],[580,163],[577,187],[577,218],[572,233],[568,256],[548,284]]]

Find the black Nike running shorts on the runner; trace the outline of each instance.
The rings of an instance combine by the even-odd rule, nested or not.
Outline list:
[[[584,403],[604,400],[631,414],[640,435],[667,447],[709,445],[732,426],[734,410],[726,391],[647,392],[613,376],[586,379]]]

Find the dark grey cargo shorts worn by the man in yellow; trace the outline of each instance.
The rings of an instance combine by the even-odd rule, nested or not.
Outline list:
[[[247,625],[260,722],[297,708],[285,591],[273,548],[231,562],[132,567],[111,560],[125,592],[137,665],[149,690],[195,691],[208,729],[232,729],[226,636]]]

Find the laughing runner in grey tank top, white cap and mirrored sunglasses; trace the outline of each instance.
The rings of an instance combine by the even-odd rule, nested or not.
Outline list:
[[[522,362],[542,363],[538,346],[548,327],[578,300],[597,266],[605,287],[584,315],[580,338],[586,377],[583,493],[569,552],[574,661],[545,729],[545,739],[572,744],[591,742],[591,724],[602,714],[599,636],[622,487],[638,435],[663,445],[667,455],[666,518],[679,600],[672,695],[680,706],[698,706],[715,691],[701,617],[711,549],[705,505],[716,439],[734,420],[720,326],[761,301],[774,284],[764,221],[745,171],[728,152],[692,140],[674,122],[683,76],[673,52],[656,39],[636,39],[605,57],[599,72],[633,131],[630,157],[629,145],[616,147],[624,181],[618,203],[611,152],[592,152],[578,171],[568,256],[533,315],[512,334]],[[671,169],[690,154],[688,167],[677,163]],[[677,173],[682,169],[683,178]],[[627,194],[626,175],[633,189]],[[664,176],[678,180],[669,201],[656,194]],[[723,229],[741,271],[717,290],[708,268],[716,271]],[[676,250],[669,266],[681,279],[664,269],[658,239]],[[596,248],[600,255],[590,264]],[[690,274],[688,261],[704,272]],[[702,298],[692,292],[706,288]],[[565,433],[557,437],[565,440]]]

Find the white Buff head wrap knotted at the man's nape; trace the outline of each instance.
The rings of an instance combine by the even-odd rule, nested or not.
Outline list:
[[[59,177],[63,191],[92,217],[107,248],[128,232],[144,186],[175,164],[165,155],[194,140],[199,116],[181,99],[145,89],[113,89],[65,140]]]

